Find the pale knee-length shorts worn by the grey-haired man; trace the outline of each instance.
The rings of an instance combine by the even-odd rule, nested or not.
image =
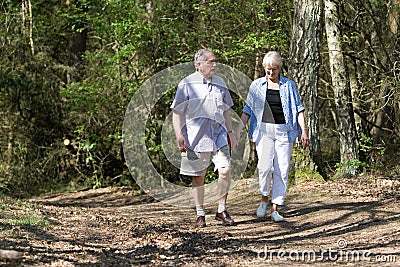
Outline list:
[[[224,146],[216,152],[195,152],[187,150],[181,153],[180,174],[188,176],[205,176],[208,166],[213,162],[215,169],[229,167],[231,163],[229,146]]]

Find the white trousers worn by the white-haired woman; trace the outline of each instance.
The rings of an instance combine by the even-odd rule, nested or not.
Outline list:
[[[285,124],[261,123],[261,140],[256,144],[260,193],[271,203],[283,205],[289,176],[293,143],[289,143]]]

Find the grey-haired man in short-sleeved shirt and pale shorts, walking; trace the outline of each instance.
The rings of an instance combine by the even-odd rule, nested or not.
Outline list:
[[[233,225],[226,209],[231,182],[229,150],[237,146],[229,111],[233,101],[225,81],[215,75],[214,53],[200,49],[194,61],[196,71],[179,83],[171,105],[177,146],[182,156],[180,173],[192,177],[197,213],[195,226],[205,227],[204,178],[207,167],[213,162],[218,170],[215,219],[223,225]]]

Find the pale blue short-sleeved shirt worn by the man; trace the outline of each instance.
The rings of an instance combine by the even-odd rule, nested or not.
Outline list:
[[[182,134],[189,149],[215,152],[228,145],[224,112],[232,106],[221,77],[213,75],[206,80],[195,72],[179,83],[171,109],[185,120]]]

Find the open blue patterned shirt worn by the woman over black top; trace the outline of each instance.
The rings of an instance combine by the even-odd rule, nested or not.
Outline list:
[[[256,143],[258,143],[262,137],[260,134],[260,125],[264,112],[266,92],[266,77],[253,81],[247,94],[246,105],[243,108],[243,113],[250,116],[248,137]],[[289,142],[292,143],[296,141],[297,137],[301,136],[301,128],[297,121],[297,115],[305,108],[301,103],[300,94],[294,81],[281,76],[279,92],[288,129]]]

